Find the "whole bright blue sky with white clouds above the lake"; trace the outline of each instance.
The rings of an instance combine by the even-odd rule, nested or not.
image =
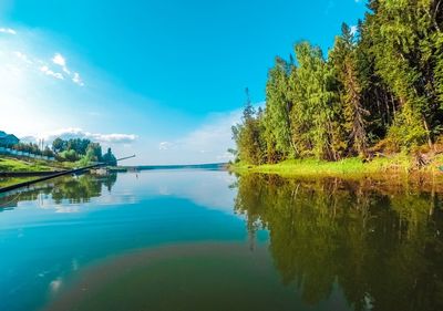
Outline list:
[[[0,129],[83,136],[135,164],[226,160],[244,90],[324,51],[364,1],[0,0]],[[8,117],[4,117],[8,115]]]

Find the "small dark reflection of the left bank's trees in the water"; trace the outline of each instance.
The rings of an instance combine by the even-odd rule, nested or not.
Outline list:
[[[85,174],[78,178],[59,177],[0,197],[0,207],[16,207],[19,201],[37,200],[41,194],[50,195],[55,204],[61,204],[65,199],[70,204],[87,203],[91,198],[101,196],[103,187],[111,191],[116,179],[116,174],[104,176]]]

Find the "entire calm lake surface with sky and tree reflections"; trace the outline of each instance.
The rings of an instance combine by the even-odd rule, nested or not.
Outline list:
[[[0,310],[443,310],[430,184],[145,170],[0,206]]]

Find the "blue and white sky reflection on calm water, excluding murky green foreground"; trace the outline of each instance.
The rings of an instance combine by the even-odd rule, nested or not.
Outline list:
[[[75,271],[132,249],[247,242],[244,219],[233,212],[234,182],[226,172],[143,172],[119,174],[111,191],[102,185],[86,203],[55,204],[51,193],[19,197],[17,207],[0,212],[0,310],[34,310]]]

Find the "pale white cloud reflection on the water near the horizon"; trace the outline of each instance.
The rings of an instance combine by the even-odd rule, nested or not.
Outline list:
[[[56,212],[79,212],[102,205],[128,205],[143,198],[174,196],[206,208],[233,214],[236,190],[229,186],[235,180],[235,176],[216,170],[144,170],[119,174],[117,183],[111,191],[102,186],[101,195],[90,198],[86,203],[76,204],[65,198],[56,204],[51,194],[39,194],[37,199],[31,201],[20,201],[19,196],[17,208],[33,208],[38,205],[42,209],[54,209]]]

